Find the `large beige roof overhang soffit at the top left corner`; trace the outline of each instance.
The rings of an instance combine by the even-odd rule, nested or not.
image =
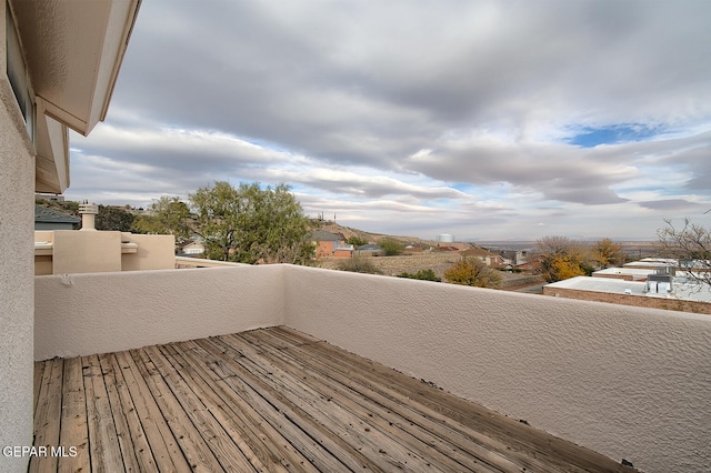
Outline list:
[[[10,0],[34,94],[88,134],[104,119],[140,0]]]

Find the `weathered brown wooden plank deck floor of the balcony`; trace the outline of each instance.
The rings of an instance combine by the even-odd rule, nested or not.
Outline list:
[[[30,471],[632,471],[283,326],[34,376]]]

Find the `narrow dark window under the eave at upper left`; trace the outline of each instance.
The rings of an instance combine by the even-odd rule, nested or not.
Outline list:
[[[32,101],[32,93],[30,93],[30,81],[27,73],[27,64],[24,63],[24,57],[22,56],[22,48],[20,47],[20,39],[18,31],[14,28],[14,20],[12,19],[12,12],[10,6],[6,2],[6,46],[7,46],[7,63],[8,63],[8,79],[10,85],[14,92],[14,97],[20,107],[20,112],[24,119],[27,131],[30,134],[30,139],[34,142],[34,119],[36,108]]]

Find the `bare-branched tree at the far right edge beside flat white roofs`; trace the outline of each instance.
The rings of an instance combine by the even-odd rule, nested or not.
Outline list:
[[[678,266],[692,281],[708,284],[711,291],[711,231],[684,219],[682,228],[664,220],[667,227],[657,231],[659,253],[677,260]]]

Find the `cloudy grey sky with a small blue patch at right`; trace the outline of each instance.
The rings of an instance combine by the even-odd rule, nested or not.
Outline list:
[[[458,240],[711,225],[711,2],[144,0],[68,198],[286,182]]]

